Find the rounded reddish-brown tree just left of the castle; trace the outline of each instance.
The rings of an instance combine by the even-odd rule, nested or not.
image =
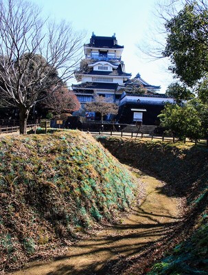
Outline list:
[[[54,92],[49,90],[47,91],[47,94],[49,96],[46,100],[44,100],[43,104],[59,117],[61,113],[69,113],[80,109],[80,102],[78,101],[78,98],[73,91],[69,91],[67,87],[60,87]]]

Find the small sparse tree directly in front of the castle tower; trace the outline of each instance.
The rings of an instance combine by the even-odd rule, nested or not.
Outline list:
[[[101,114],[101,120],[103,123],[104,115],[111,113],[117,115],[118,106],[115,103],[111,103],[111,98],[104,98],[104,96],[95,95],[93,102],[85,104],[87,111],[95,111]]]

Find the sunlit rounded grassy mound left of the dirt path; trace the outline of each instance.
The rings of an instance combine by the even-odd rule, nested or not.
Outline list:
[[[0,146],[0,271],[70,244],[135,198],[135,178],[91,135],[4,137]]]

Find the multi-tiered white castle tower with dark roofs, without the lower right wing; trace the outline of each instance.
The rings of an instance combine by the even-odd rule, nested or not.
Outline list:
[[[75,72],[76,80],[81,83],[72,85],[81,104],[91,102],[95,94],[119,103],[122,91],[117,87],[124,85],[131,76],[125,72],[123,50],[124,46],[117,44],[115,34],[95,36],[93,33],[90,43],[84,44],[85,58]]]

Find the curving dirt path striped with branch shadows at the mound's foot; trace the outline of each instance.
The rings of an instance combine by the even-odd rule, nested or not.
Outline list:
[[[47,263],[30,263],[13,275],[106,274],[108,261],[137,255],[144,245],[160,239],[178,221],[178,200],[159,193],[161,181],[141,174],[146,196],[122,224],[105,228],[91,238],[69,247],[68,252]],[[107,275],[107,274],[106,274]]]

